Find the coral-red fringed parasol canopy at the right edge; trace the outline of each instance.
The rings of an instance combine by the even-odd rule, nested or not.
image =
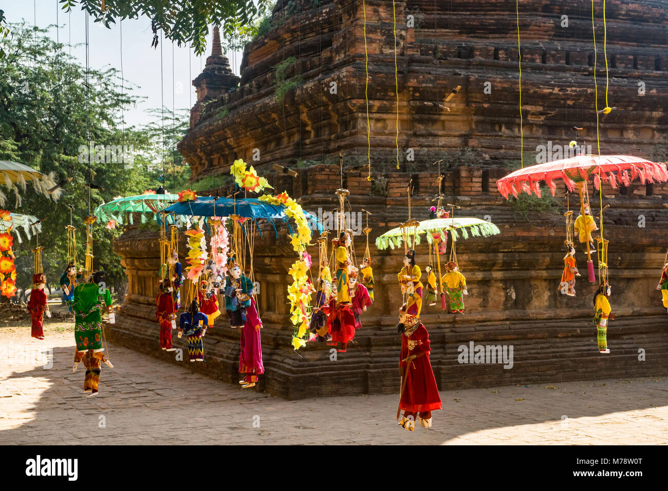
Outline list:
[[[596,189],[601,187],[601,179],[612,187],[617,187],[619,183],[629,185],[636,177],[639,177],[643,184],[668,181],[665,163],[630,155],[578,155],[517,169],[496,181],[496,185],[506,199],[511,193],[517,197],[522,191],[527,194],[533,192],[540,197],[540,181],[545,181],[554,196],[556,191],[554,179],[562,179],[568,190],[574,191],[576,183],[585,181],[589,175],[596,176],[594,179]]]

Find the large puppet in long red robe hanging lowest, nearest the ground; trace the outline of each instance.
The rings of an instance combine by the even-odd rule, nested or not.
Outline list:
[[[403,410],[399,424],[406,430],[415,429],[415,420],[420,426],[432,426],[432,411],[442,408],[438,394],[434,370],[430,362],[429,333],[420,322],[420,316],[409,314],[409,306],[403,304],[399,310],[397,331],[401,334],[401,356],[399,376],[401,376],[401,396],[397,420]],[[414,312],[414,310],[413,310]]]

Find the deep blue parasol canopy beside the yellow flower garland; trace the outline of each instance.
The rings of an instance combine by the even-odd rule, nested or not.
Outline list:
[[[242,218],[252,219],[257,225],[257,219],[268,219],[274,227],[275,233],[278,231],[273,223],[275,219],[281,219],[287,223],[290,233],[292,227],[288,221],[288,216],[285,214],[285,206],[273,205],[266,201],[261,201],[256,198],[234,199],[231,197],[219,197],[216,199],[212,196],[198,196],[195,200],[180,201],[164,209],[166,213],[176,213],[176,215],[190,215],[200,217],[228,217],[230,215],[237,215]],[[304,211],[305,217],[309,220],[311,229],[317,228],[319,231],[323,230],[321,223],[317,217]],[[258,231],[259,231],[258,227]],[[262,235],[262,232],[260,232]]]

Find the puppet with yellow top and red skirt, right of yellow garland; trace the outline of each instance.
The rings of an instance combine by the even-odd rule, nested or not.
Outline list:
[[[348,248],[351,245],[350,235],[341,231],[338,239],[333,239],[336,260],[335,288],[336,298],[329,302],[329,308],[323,308],[327,314],[327,330],[331,340],[330,346],[336,346],[339,353],[345,353],[350,341],[355,338],[355,314],[351,308],[351,292],[348,284],[351,272],[357,272],[353,266]]]

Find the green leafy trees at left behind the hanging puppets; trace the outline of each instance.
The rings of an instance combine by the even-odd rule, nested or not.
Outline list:
[[[47,280],[57,285],[67,262],[65,226],[70,223],[70,213],[77,227],[81,262],[86,241],[83,219],[97,205],[160,185],[170,192],[186,185],[190,168],[176,151],[176,142],[188,127],[187,110],[174,115],[169,109],[154,109],[148,125],[124,127],[122,111],[139,97],[127,81],[122,85],[116,69],[87,71],[45,29],[25,23],[9,27],[12,35],[4,45],[5,57],[0,58],[0,159],[18,161],[43,173],[54,171],[61,183],[72,178],[63,184],[57,203],[29,186],[21,207],[10,209],[45,219],[39,245],[45,247]],[[132,159],[129,163],[114,161],[100,151],[87,159],[86,149],[96,145],[127,145],[132,147]],[[104,269],[111,285],[121,285],[125,277],[120,258],[112,250],[120,231],[104,225],[94,227],[94,268]],[[19,288],[29,288],[33,268],[29,250],[34,244],[34,237],[31,243],[17,244]]]

